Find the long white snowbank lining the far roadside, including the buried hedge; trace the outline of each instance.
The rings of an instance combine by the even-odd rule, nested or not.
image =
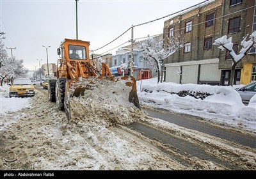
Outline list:
[[[141,104],[160,107],[179,113],[201,116],[217,123],[256,130],[256,100],[253,97],[245,106],[239,93],[231,86],[210,86],[206,84],[176,84],[157,79],[137,81],[141,86],[138,98]],[[204,95],[205,98],[181,94]],[[185,91],[185,92],[184,92]],[[192,91],[192,92],[191,92]],[[188,92],[188,93],[186,93]]]

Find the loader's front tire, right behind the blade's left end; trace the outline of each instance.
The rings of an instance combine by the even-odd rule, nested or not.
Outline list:
[[[56,105],[57,108],[61,111],[64,111],[64,98],[65,98],[65,84],[67,79],[65,77],[61,77],[57,79],[56,82]]]

